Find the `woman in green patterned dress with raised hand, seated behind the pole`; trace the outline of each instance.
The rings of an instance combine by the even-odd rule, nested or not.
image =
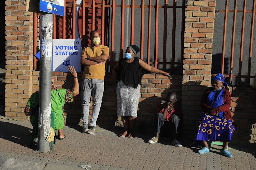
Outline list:
[[[54,86],[55,79],[52,77],[52,100],[51,111],[55,112],[55,129],[58,130],[57,139],[63,139],[66,136],[62,132],[62,128],[66,124],[67,113],[63,106],[67,102],[73,102],[74,97],[79,94],[79,83],[77,80],[77,73],[72,66],[68,67],[69,72],[73,75],[74,87],[73,89],[56,89]],[[24,109],[25,115],[30,116],[30,122],[33,125],[35,115],[38,114],[39,109],[39,91],[34,92],[28,99],[28,103]]]

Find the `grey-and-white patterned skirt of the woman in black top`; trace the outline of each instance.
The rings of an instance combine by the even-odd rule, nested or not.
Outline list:
[[[117,115],[137,117],[138,104],[140,99],[140,85],[137,88],[124,85],[119,81],[116,87]]]

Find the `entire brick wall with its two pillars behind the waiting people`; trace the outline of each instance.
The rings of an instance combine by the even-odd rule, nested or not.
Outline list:
[[[30,95],[39,89],[39,71],[34,71],[32,67],[33,17],[32,13],[25,11],[25,4],[23,0],[5,0],[5,116],[28,120],[23,109]],[[178,104],[184,113],[183,139],[193,140],[201,113],[200,99],[211,84],[214,11],[215,0],[187,1],[183,76],[172,75],[171,79],[157,74],[143,76],[136,122],[142,132],[153,128],[156,106],[168,91],[174,90],[181,99]],[[52,72],[52,75],[56,78],[57,88],[70,88],[73,85],[68,73]],[[78,76],[81,80],[82,73],[78,73]],[[116,117],[115,90],[116,81],[110,73],[106,73],[98,125],[122,126],[120,118]],[[243,145],[256,142],[256,92],[237,87],[231,87],[230,91],[233,124],[236,126],[231,142]],[[81,121],[81,96],[76,96],[75,102],[66,104],[65,110],[68,113],[67,122],[78,124]]]

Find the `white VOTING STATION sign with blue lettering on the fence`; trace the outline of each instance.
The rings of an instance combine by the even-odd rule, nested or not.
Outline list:
[[[81,39],[53,39],[53,71],[67,72],[68,66],[81,71]]]

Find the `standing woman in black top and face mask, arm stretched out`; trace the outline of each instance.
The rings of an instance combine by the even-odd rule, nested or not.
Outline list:
[[[140,48],[136,45],[129,45],[125,52],[125,58],[120,59],[112,69],[113,78],[118,81],[116,87],[117,116],[122,117],[124,124],[124,132],[119,135],[120,137],[133,137],[133,126],[140,99],[142,68],[170,77],[170,73],[158,70],[135,57],[139,51]]]

